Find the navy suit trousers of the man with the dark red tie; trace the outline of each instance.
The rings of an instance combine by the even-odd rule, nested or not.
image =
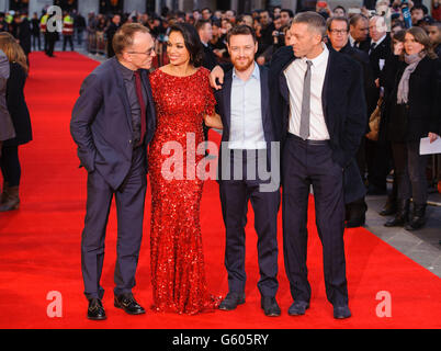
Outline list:
[[[104,261],[105,229],[113,196],[116,202],[117,245],[114,294],[132,292],[143,237],[147,176],[144,147],[134,150],[132,168],[114,191],[95,170],[88,177],[88,201],[81,240],[81,267],[87,298],[102,298],[100,279]]]

